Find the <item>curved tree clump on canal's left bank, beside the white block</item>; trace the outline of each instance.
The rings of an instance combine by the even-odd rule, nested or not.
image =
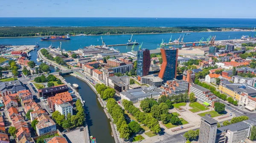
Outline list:
[[[56,121],[59,126],[62,126],[64,129],[70,129],[77,126],[82,126],[85,121],[85,113],[84,107],[81,104],[80,99],[76,101],[76,115],[67,114],[67,118],[65,115],[61,115],[60,112],[55,111],[52,113],[52,119]]]

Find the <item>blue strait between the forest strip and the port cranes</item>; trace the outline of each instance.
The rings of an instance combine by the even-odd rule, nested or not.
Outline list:
[[[133,41],[136,39],[140,44],[143,42],[142,48],[147,49],[156,49],[158,44],[162,42],[162,39],[165,42],[169,42],[170,37],[172,36],[172,40],[178,39],[180,36],[182,38],[184,33],[172,33],[172,34],[135,34],[133,36]],[[202,37],[206,39],[212,35],[216,35],[216,40],[224,40],[224,39],[240,39],[242,35],[254,36],[254,32],[194,32],[191,35],[184,35],[184,42],[195,42],[199,41]],[[79,48],[83,48],[84,46],[90,45],[102,45],[102,41],[100,39],[101,36],[71,36],[71,40],[61,41],[61,48],[65,50],[77,50]],[[125,44],[128,42],[128,39],[131,38],[131,35],[104,35],[102,36],[106,45],[112,44]],[[180,39],[181,39],[180,38]],[[98,41],[99,40],[99,41]],[[0,44],[12,44],[12,45],[35,45],[35,42],[38,42],[40,47],[49,47],[49,45],[53,45],[54,47],[58,47],[60,45],[60,41],[40,41],[40,37],[20,37],[20,38],[0,38]],[[132,46],[128,46],[126,50],[126,46],[116,46],[113,48],[118,48],[121,53],[126,53],[131,51]],[[139,45],[135,45],[134,50],[138,50]]]

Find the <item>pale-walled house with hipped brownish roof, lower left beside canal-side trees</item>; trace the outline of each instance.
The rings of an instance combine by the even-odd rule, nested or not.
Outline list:
[[[44,115],[44,116],[48,116],[48,115]],[[40,120],[36,125],[36,133],[38,134],[38,136],[40,135],[44,135],[47,132],[52,132],[56,130],[56,123],[48,118],[43,118],[42,120]]]

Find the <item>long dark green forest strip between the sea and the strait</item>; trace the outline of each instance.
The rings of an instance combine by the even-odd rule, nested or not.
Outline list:
[[[231,28],[229,28],[231,29]],[[247,29],[247,28],[243,28]],[[0,27],[0,37],[63,36],[66,34],[159,34],[182,31],[221,31],[218,27]]]

